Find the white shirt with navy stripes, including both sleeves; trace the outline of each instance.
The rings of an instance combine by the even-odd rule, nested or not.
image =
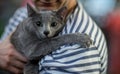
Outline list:
[[[2,39],[5,39],[25,18],[26,7],[18,9],[10,19]],[[88,34],[93,40],[93,45],[89,48],[81,48],[77,44],[61,46],[39,62],[40,74],[106,74],[108,57],[105,37],[79,2],[61,34],[75,32]]]

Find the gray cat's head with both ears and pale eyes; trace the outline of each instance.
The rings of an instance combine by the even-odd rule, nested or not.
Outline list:
[[[47,38],[56,36],[64,27],[67,8],[63,7],[58,11],[40,10],[35,11],[30,5],[27,5],[28,18],[31,18],[31,31],[35,31],[38,38]]]

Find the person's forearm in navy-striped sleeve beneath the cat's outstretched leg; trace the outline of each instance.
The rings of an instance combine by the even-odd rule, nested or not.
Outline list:
[[[101,74],[99,51],[95,46],[81,48],[79,45],[63,46],[46,56],[40,73],[52,74]],[[44,70],[45,69],[45,70]]]

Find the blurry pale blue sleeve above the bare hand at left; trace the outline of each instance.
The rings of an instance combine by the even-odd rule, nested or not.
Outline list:
[[[5,27],[1,41],[4,40],[11,32],[13,32],[17,25],[27,17],[26,7],[22,7],[16,10],[14,15],[10,18],[8,24]]]

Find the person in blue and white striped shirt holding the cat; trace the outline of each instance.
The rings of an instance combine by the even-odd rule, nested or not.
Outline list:
[[[40,74],[106,74],[107,44],[105,37],[96,23],[84,11],[78,0],[33,0],[38,10],[57,10],[67,2],[66,24],[61,35],[86,33],[93,40],[93,47],[80,48],[79,45],[65,45],[45,56],[39,62]],[[18,53],[10,43],[10,35],[17,25],[27,18],[27,9],[18,9],[10,19],[0,43],[0,68],[15,74],[22,72],[27,58]]]

